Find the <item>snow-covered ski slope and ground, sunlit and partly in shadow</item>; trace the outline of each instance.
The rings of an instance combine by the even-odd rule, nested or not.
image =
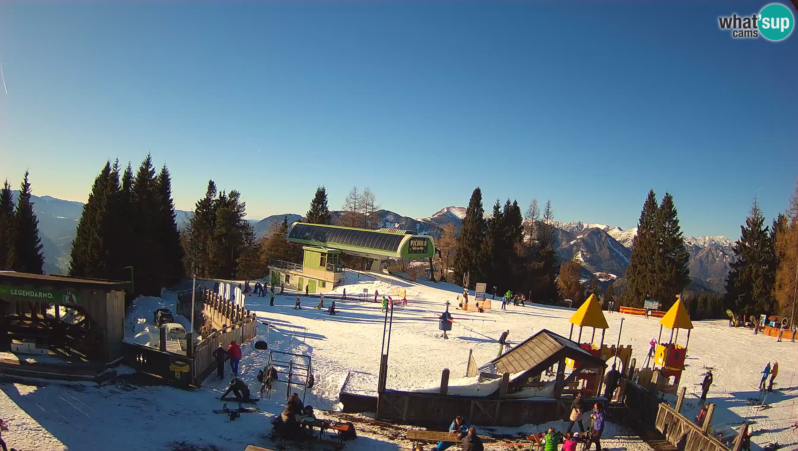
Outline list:
[[[322,409],[338,406],[338,391],[347,374],[350,374],[346,390],[370,394],[377,386],[377,370],[384,314],[380,303],[362,302],[362,291],[373,300],[374,290],[382,294],[407,291],[409,305],[396,307],[393,312],[393,330],[390,345],[389,375],[387,386],[401,390],[423,390],[436,387],[440,382],[440,371],[448,368],[452,372],[452,386],[464,383],[468,350],[472,349],[478,365],[494,358],[499,350],[496,338],[501,331],[510,330],[508,339],[520,342],[535,331],[546,328],[567,336],[570,323],[567,319],[573,310],[528,305],[500,311],[500,301],[494,310],[484,314],[455,310],[456,298],[461,288],[448,283],[428,281],[409,282],[389,275],[370,274],[371,277],[347,273],[345,284],[334,293],[341,294],[346,288],[346,301],[337,301],[338,315],[326,315],[314,306],[318,298],[302,296],[302,310],[294,310],[295,294],[278,295],[275,307],[270,307],[268,298],[247,297],[247,308],[256,311],[261,322],[273,327],[267,331],[259,325],[262,339],[268,339],[270,349],[286,350],[297,354],[310,354],[313,358],[316,385],[306,398],[306,404]],[[473,295],[473,293],[471,293]],[[381,296],[380,296],[381,297]],[[353,299],[354,298],[354,299]],[[393,296],[400,299],[400,296]],[[438,338],[435,318],[444,311],[446,301],[452,303],[450,311],[456,318],[450,339]],[[147,302],[150,302],[148,300]],[[164,299],[163,303],[173,303]],[[330,299],[325,300],[325,307]],[[155,303],[153,303],[154,305]],[[142,304],[143,305],[143,304]],[[142,314],[143,315],[143,314]],[[150,313],[151,315],[151,313]],[[144,316],[146,318],[146,316]],[[622,344],[634,346],[634,357],[645,360],[651,338],[659,330],[657,319],[639,318],[630,315],[606,315],[610,329],[606,330],[605,342],[618,339],[620,318],[625,318]],[[791,342],[776,343],[775,338],[753,335],[749,330],[731,329],[726,321],[694,322],[689,343],[687,370],[682,384],[688,387],[688,399],[683,413],[692,417],[697,413],[697,384],[705,373],[703,366],[713,367],[714,382],[708,402],[717,405],[713,417],[713,428],[733,433],[741,421],[753,421],[753,449],[769,441],[788,445],[783,449],[796,449],[798,436],[789,425],[798,421],[798,406],[794,400],[798,381],[793,380],[798,369],[796,347]],[[136,334],[142,330],[136,330]],[[583,341],[591,338],[591,330],[583,331]],[[598,342],[601,331],[596,334]],[[667,339],[670,332],[663,333]],[[142,338],[144,336],[142,335]],[[679,341],[684,342],[681,332]],[[255,377],[265,365],[268,351],[243,347],[243,358],[239,372],[253,392],[259,390]],[[777,359],[780,365],[776,387],[782,390],[767,398],[771,409],[757,411],[748,406],[746,398],[757,398],[760,371],[768,361]],[[269,433],[269,418],[282,410],[286,386],[275,385],[272,398],[259,402],[260,413],[248,413],[235,421],[224,415],[215,415],[212,409],[220,409],[218,398],[229,380],[226,369],[225,380],[211,375],[199,390],[186,392],[164,386],[136,386],[124,381],[106,382],[97,388],[93,385],[69,383],[60,385],[42,382],[41,386],[24,386],[3,382],[0,384],[0,417],[10,421],[11,430],[3,433],[10,446],[26,450],[34,449],[106,449],[109,443],[135,444],[136,449],[170,449],[168,444],[185,441],[194,445],[215,445],[219,449],[237,451],[247,444],[271,447],[265,438]],[[292,390],[299,391],[301,390]],[[322,415],[323,416],[323,415]],[[564,429],[565,423],[553,424]],[[516,429],[497,429],[500,433],[519,431],[536,432],[540,426]],[[612,426],[614,428],[614,426]],[[488,432],[487,430],[485,432]],[[615,440],[607,440],[610,448],[648,449],[639,439],[626,437],[622,429],[608,429],[608,433],[620,434]],[[610,434],[605,433],[608,439]],[[347,449],[399,449],[409,448],[409,442],[390,438],[379,431],[358,430],[358,440],[347,445]],[[395,434],[394,434],[395,436]],[[604,444],[602,440],[602,444]],[[490,449],[490,448],[488,448]]]

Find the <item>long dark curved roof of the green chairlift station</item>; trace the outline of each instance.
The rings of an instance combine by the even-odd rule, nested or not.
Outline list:
[[[288,234],[289,239],[306,239],[344,246],[366,247],[379,251],[398,252],[407,235],[376,230],[330,227],[322,224],[295,223]],[[334,246],[331,246],[334,247]]]

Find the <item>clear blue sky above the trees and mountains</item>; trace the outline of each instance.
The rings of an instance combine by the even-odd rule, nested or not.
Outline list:
[[[717,28],[765,4],[2,2],[0,178],[85,201],[152,152],[181,209],[211,178],[250,217],[319,184],[429,216],[480,185],[624,228],[654,188],[736,239],[798,178],[798,33]]]

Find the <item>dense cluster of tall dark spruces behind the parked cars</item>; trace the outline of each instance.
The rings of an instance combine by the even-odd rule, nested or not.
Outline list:
[[[172,176],[165,164],[156,174],[148,154],[134,175],[130,163],[123,172],[119,160],[105,162],[77,223],[69,275],[132,276],[133,291],[142,295],[160,295],[162,287],[183,278]]]

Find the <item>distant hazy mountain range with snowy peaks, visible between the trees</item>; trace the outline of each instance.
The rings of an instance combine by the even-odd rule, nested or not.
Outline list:
[[[16,199],[18,192],[14,192]],[[69,251],[75,238],[77,221],[81,218],[83,204],[71,200],[61,200],[53,196],[33,196],[34,207],[39,220],[41,243],[45,254],[45,271],[65,273],[69,268]],[[420,235],[440,236],[443,227],[452,225],[460,230],[466,208],[441,208],[432,216],[411,218],[396,212],[381,209],[371,213],[375,227],[400,228],[412,230]],[[177,224],[180,226],[191,218],[193,212],[175,210]],[[340,220],[343,212],[332,211],[334,220]],[[255,227],[256,235],[266,235],[272,225],[288,216],[288,224],[302,220],[302,215],[286,213],[249,220]],[[583,266],[585,275],[596,275],[602,282],[622,278],[631,257],[631,247],[637,228],[622,229],[606,224],[591,224],[582,221],[555,222],[555,246],[561,261],[576,259]],[[725,236],[685,237],[689,251],[690,276],[698,286],[722,291],[725,277],[729,273],[729,263],[733,259],[732,242]]]

